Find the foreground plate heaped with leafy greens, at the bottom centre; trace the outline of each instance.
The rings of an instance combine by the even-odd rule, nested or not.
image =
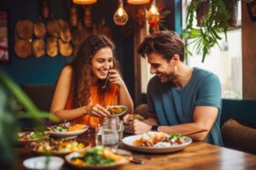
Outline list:
[[[65,156],[67,163],[83,169],[113,169],[130,162],[131,152],[96,146],[84,152],[73,152]]]

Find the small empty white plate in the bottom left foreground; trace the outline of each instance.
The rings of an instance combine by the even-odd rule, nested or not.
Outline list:
[[[49,156],[49,162],[47,159],[47,156],[32,157],[23,161],[23,165],[27,169],[47,169],[46,165],[49,163],[49,170],[58,170],[64,164],[64,160],[58,156]]]

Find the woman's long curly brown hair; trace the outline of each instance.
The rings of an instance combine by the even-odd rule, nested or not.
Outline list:
[[[81,107],[90,104],[90,75],[92,74],[92,59],[101,48],[111,48],[113,55],[115,47],[108,37],[97,35],[88,37],[79,47],[78,54],[69,64],[73,68],[72,94],[73,106]],[[119,71],[119,63],[113,56],[113,69]],[[101,83],[101,81],[99,82]],[[108,90],[108,88],[106,89]],[[100,96],[106,90],[99,89]]]

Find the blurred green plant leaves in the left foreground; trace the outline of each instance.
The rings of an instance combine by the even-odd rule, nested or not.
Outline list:
[[[39,111],[21,88],[0,71],[0,167],[3,169],[14,166],[19,122],[24,118],[32,120],[38,128],[43,126],[45,118],[56,120],[49,112]]]

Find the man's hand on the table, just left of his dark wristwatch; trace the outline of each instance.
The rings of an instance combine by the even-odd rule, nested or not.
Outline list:
[[[131,132],[133,132],[134,134],[148,133],[148,131],[151,130],[151,126],[137,120],[131,122],[130,128]]]

